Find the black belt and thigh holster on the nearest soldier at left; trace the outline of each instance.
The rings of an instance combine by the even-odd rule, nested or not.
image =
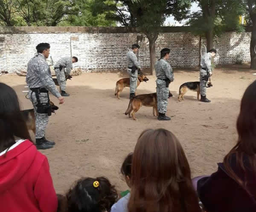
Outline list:
[[[37,113],[42,113],[42,114],[48,114],[48,116],[52,115],[52,106],[50,105],[50,98],[49,98],[49,91],[46,88],[30,88],[30,90],[32,91],[32,93],[35,92],[35,97],[37,100],[37,104],[33,105],[35,107],[37,107],[36,112]],[[31,96],[32,96],[31,93]],[[40,98],[39,98],[39,93],[47,93],[47,99],[48,102],[47,103],[41,103]],[[33,101],[32,101],[33,102]]]

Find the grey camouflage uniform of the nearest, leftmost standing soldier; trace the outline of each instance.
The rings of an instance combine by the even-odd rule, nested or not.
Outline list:
[[[51,71],[46,62],[46,58],[41,53],[30,59],[28,62],[26,83],[29,88],[46,88],[57,98],[61,96],[52,80]],[[38,102],[35,92],[32,92],[31,90],[29,90],[29,99],[34,106],[35,111],[35,138],[40,139],[44,137],[45,134],[45,128],[48,123],[48,114],[36,112],[36,105]],[[41,103],[48,102],[47,93],[39,93],[39,99]]]

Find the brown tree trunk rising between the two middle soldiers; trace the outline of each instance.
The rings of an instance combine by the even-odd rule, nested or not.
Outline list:
[[[154,68],[156,63],[156,40],[158,37],[158,33],[154,34],[146,34],[149,41],[149,54],[150,54],[150,74],[155,75],[156,70]]]

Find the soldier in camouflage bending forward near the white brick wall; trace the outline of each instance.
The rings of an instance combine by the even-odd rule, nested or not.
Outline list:
[[[60,86],[61,96],[69,96],[66,93],[66,76],[68,76],[71,72],[72,63],[77,62],[77,57],[62,57],[58,60],[58,62],[54,65],[54,71],[57,77],[58,84]],[[66,72],[65,72],[66,68]]]

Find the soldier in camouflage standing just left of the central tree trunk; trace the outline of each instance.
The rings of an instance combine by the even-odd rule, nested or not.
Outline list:
[[[137,51],[139,51],[140,45],[134,44],[131,47],[131,50],[127,52],[127,65],[128,73],[130,75],[130,99],[135,96],[137,89],[137,79],[138,79],[138,70],[140,70],[140,62],[136,57]]]

